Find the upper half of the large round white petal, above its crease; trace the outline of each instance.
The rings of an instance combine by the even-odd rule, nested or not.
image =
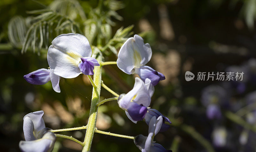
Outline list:
[[[92,49],[89,41],[81,34],[61,34],[52,41],[52,45],[63,53],[76,52],[82,57],[91,57]]]

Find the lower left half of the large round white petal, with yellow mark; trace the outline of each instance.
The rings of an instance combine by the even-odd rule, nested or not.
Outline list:
[[[63,52],[51,45],[48,49],[47,60],[54,74],[63,78],[75,78],[81,71],[78,67],[82,55],[75,51]]]

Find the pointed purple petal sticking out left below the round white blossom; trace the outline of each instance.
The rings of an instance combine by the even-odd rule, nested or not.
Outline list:
[[[48,69],[38,69],[27,75],[24,75],[23,78],[31,84],[43,85],[51,80],[50,71]]]

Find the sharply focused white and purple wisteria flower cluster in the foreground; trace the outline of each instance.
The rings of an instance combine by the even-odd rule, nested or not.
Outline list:
[[[134,37],[124,42],[118,53],[116,64],[123,72],[127,74],[138,74],[140,78],[135,78],[134,87],[127,94],[117,95],[115,93],[114,95],[117,96],[115,99],[117,99],[119,107],[125,110],[127,117],[132,122],[137,123],[137,121],[145,119],[146,124],[149,126],[147,137],[138,135],[136,137],[127,136],[127,138],[133,139],[135,145],[142,152],[171,151],[166,150],[163,146],[154,141],[154,136],[158,132],[164,132],[169,129],[170,126],[165,123],[171,124],[171,121],[156,109],[149,107],[151,97],[155,91],[154,86],[156,86],[160,80],[165,79],[162,73],[146,66],[151,55],[152,50],[150,45],[148,43],[145,44],[142,37],[139,35],[134,35]],[[94,87],[93,91],[94,93],[96,92],[96,95],[99,97],[97,89],[99,89],[100,86],[97,86],[96,78],[92,81],[90,75],[94,75],[94,66],[100,66],[101,68],[102,65],[100,64],[102,62],[98,62],[97,59],[91,56],[92,49],[85,36],[74,33],[61,34],[52,41],[52,45],[48,49],[47,60],[49,69],[36,70],[24,75],[24,79],[36,85],[42,85],[51,81],[54,91],[60,92],[60,78],[75,78],[83,73],[88,75]],[[102,85],[102,87],[104,86]],[[108,89],[109,92],[113,92],[108,87],[105,88]],[[96,106],[104,102],[105,101],[101,101],[99,103],[98,99]],[[36,111],[24,117],[23,130],[26,141],[20,142],[20,149],[22,151],[34,151],[36,147],[38,147],[36,151],[40,152],[52,150],[56,140],[56,136],[53,133],[55,131],[45,128],[42,118],[43,114],[43,111]],[[96,116],[90,115],[87,127],[82,128],[87,129],[85,141],[81,143],[84,147],[87,147],[86,145],[92,142],[93,133],[99,132],[97,128],[95,128],[95,121],[93,124],[93,120],[91,120],[96,120]],[[92,132],[92,137],[87,137],[87,132],[89,133],[90,131]],[[103,132],[100,131],[100,133]]]

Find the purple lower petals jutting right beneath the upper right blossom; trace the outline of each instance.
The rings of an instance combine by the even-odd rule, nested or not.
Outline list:
[[[156,70],[152,69],[149,66],[141,66],[140,68],[136,68],[135,73],[137,73],[140,76],[140,79],[143,80],[144,82],[147,78],[151,80],[151,83],[154,86],[156,86],[160,80],[165,79],[164,74],[157,72]]]

